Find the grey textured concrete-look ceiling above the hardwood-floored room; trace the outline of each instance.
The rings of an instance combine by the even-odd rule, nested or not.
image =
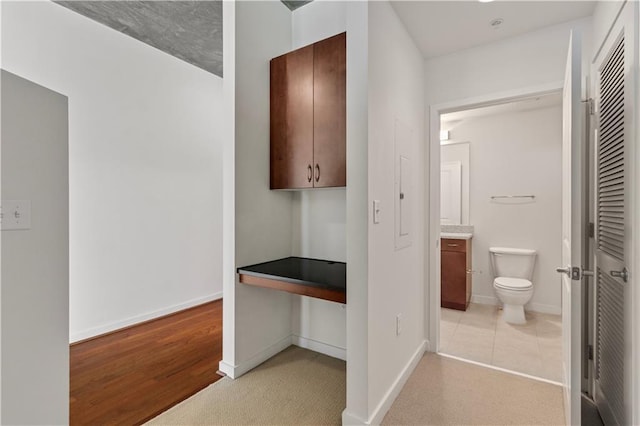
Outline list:
[[[222,1],[56,1],[222,77]]]

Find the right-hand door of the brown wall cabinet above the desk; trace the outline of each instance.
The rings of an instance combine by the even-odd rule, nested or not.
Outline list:
[[[314,186],[347,185],[347,35],[313,45]]]

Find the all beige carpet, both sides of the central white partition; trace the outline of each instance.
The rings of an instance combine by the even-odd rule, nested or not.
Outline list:
[[[153,425],[339,425],[345,363],[291,346],[246,375],[224,378]],[[425,355],[384,425],[562,425],[562,388]]]

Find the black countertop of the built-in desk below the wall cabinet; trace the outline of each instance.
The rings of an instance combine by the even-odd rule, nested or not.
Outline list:
[[[287,257],[238,268],[239,274],[346,292],[347,264],[329,260]]]

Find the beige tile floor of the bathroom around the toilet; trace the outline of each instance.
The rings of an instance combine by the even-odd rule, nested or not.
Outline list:
[[[536,377],[562,380],[560,315],[527,312],[524,325],[507,324],[497,306],[442,308],[440,352]]]

